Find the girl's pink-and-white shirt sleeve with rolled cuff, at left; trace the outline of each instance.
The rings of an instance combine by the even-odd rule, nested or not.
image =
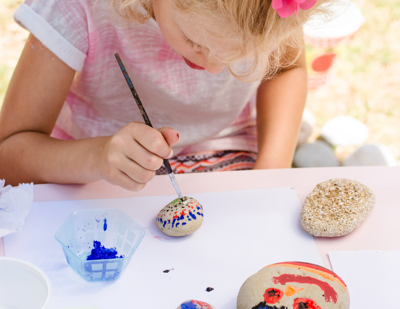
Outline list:
[[[89,49],[86,11],[90,8],[85,8],[85,2],[26,0],[14,13],[14,20],[69,67],[82,71]]]

